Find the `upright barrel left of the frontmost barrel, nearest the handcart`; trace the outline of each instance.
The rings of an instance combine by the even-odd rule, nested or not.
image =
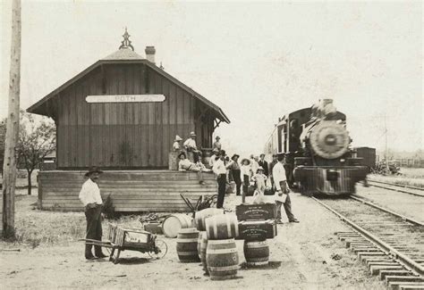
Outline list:
[[[176,249],[182,262],[200,261],[198,254],[199,230],[182,228],[177,236]]]

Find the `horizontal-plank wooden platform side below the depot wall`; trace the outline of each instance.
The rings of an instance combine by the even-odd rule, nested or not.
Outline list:
[[[85,171],[40,171],[38,205],[43,210],[82,211],[78,198]],[[105,171],[98,185],[103,200],[111,196],[115,211],[189,211],[181,194],[196,203],[200,195],[215,195],[214,174],[170,170]]]

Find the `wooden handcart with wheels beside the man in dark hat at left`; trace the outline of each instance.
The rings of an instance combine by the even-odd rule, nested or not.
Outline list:
[[[160,259],[168,252],[165,241],[140,228],[120,228],[109,224],[108,241],[81,239],[85,244],[94,244],[111,249],[109,261],[119,262],[119,255],[125,250],[148,253],[153,259]],[[114,256],[114,252],[116,255]]]

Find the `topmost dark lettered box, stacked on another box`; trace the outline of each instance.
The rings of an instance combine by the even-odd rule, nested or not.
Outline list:
[[[276,203],[240,204],[235,207],[238,220],[274,220]]]

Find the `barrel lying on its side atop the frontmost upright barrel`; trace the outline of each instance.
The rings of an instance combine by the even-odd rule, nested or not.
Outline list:
[[[223,240],[239,236],[239,223],[235,214],[220,214],[206,219],[208,240]]]

